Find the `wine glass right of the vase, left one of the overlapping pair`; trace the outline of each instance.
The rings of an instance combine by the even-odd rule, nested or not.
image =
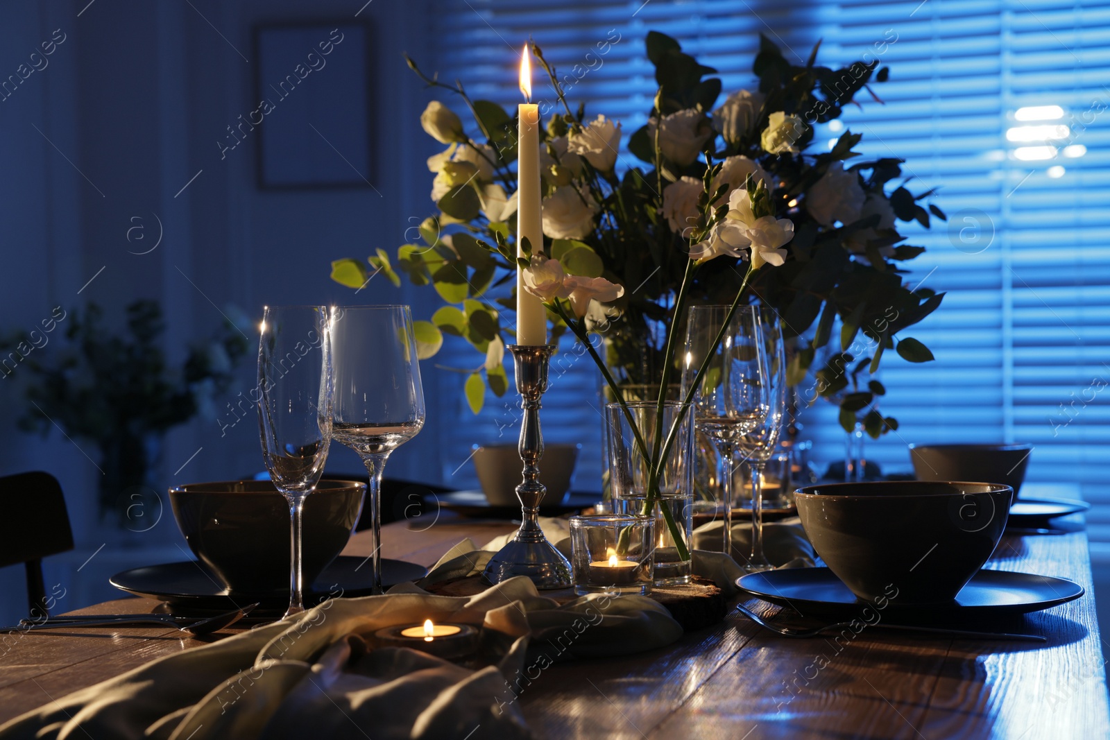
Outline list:
[[[722,499],[725,517],[724,550],[733,551],[733,466],[745,436],[765,424],[769,398],[767,359],[755,306],[738,306],[726,325],[728,306],[692,306],[683,354],[683,395],[689,392],[698,368],[720,343],[694,396],[696,428],[713,439],[725,468]]]

